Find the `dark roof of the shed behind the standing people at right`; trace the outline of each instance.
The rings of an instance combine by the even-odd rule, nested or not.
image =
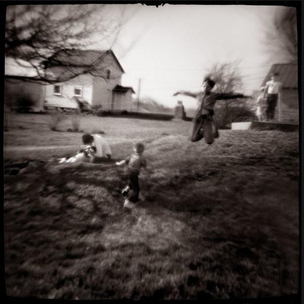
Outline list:
[[[264,78],[261,86],[265,86],[266,82],[271,80],[272,73],[279,73],[278,81],[282,83],[283,88],[297,89],[298,87],[298,67],[296,63],[273,64],[268,74]]]

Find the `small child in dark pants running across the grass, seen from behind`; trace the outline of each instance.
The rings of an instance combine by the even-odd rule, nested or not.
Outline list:
[[[122,191],[123,195],[127,196],[124,202],[125,208],[133,208],[136,202],[138,202],[139,196],[139,183],[138,176],[140,174],[141,167],[146,168],[146,160],[142,156],[144,151],[144,145],[137,143],[134,145],[134,153],[125,160],[116,162],[116,165],[121,166],[127,164],[127,176],[129,184]]]

